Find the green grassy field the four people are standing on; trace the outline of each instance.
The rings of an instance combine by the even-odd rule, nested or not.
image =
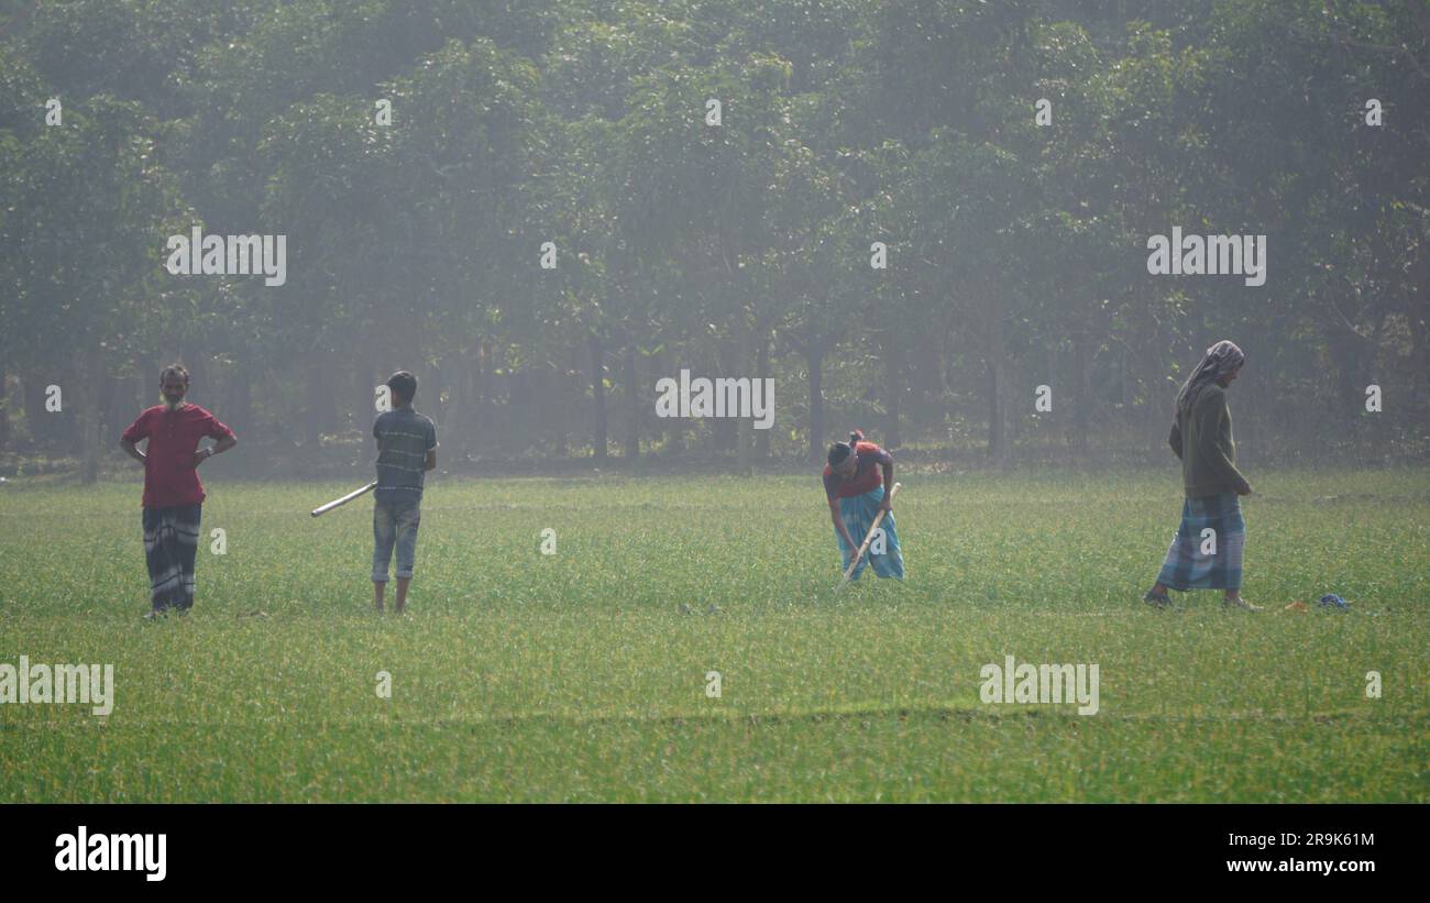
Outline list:
[[[0,802],[1430,800],[1427,470],[1253,474],[1260,613],[1140,602],[1173,473],[904,473],[908,577],[838,596],[814,476],[438,479],[402,619],[370,500],[206,479],[227,550],[160,623],[137,483],[0,487],[0,663],[116,683],[0,706]],[[984,704],[1008,654],[1097,663],[1100,712]]]

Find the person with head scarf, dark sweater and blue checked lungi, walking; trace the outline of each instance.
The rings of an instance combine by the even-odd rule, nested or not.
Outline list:
[[[1177,414],[1168,441],[1181,459],[1187,500],[1157,583],[1143,596],[1154,607],[1171,604],[1168,587],[1178,592],[1224,590],[1223,604],[1228,609],[1261,607],[1241,599],[1246,522],[1241,519],[1240,496],[1250,496],[1251,484],[1237,470],[1237,446],[1231,439],[1231,411],[1227,409],[1227,387],[1244,363],[1241,349],[1223,339],[1207,349],[1177,393]],[[1214,533],[1204,536],[1208,529]],[[1208,553],[1203,552],[1204,547]]]

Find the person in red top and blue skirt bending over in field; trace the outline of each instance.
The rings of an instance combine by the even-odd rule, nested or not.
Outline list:
[[[881,577],[904,579],[904,556],[898,549],[898,533],[894,530],[894,507],[885,494],[885,487],[894,486],[894,456],[872,441],[864,441],[864,433],[854,430],[849,441],[829,446],[829,463],[824,469],[824,494],[829,502],[829,516],[834,519],[834,534],[839,540],[844,569],[859,550],[874,517],[882,510],[882,550],[879,543],[869,544],[868,553],[854,569],[851,580],[858,580],[865,564],[874,566]],[[841,569],[841,570],[844,570]]]

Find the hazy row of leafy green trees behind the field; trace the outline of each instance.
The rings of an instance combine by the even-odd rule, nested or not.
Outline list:
[[[1154,449],[1233,337],[1253,450],[1423,450],[1427,160],[1419,0],[41,0],[0,444],[93,477],[179,357],[283,460],[399,367],[458,457]],[[194,224],[287,236],[287,283],[172,276]],[[1148,274],[1173,226],[1266,234],[1266,286]],[[775,379],[775,429],[656,420],[681,367]]]

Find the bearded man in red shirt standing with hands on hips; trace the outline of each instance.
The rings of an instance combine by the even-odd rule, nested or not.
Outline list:
[[[170,364],[159,374],[164,403],[129,424],[119,444],[144,464],[144,559],[154,617],[170,607],[193,607],[193,559],[199,550],[203,483],[199,464],[239,443],[233,430],[197,404],[186,404],[189,371]],[[199,452],[204,436],[216,444]],[[144,452],[134,446],[147,439]]]

